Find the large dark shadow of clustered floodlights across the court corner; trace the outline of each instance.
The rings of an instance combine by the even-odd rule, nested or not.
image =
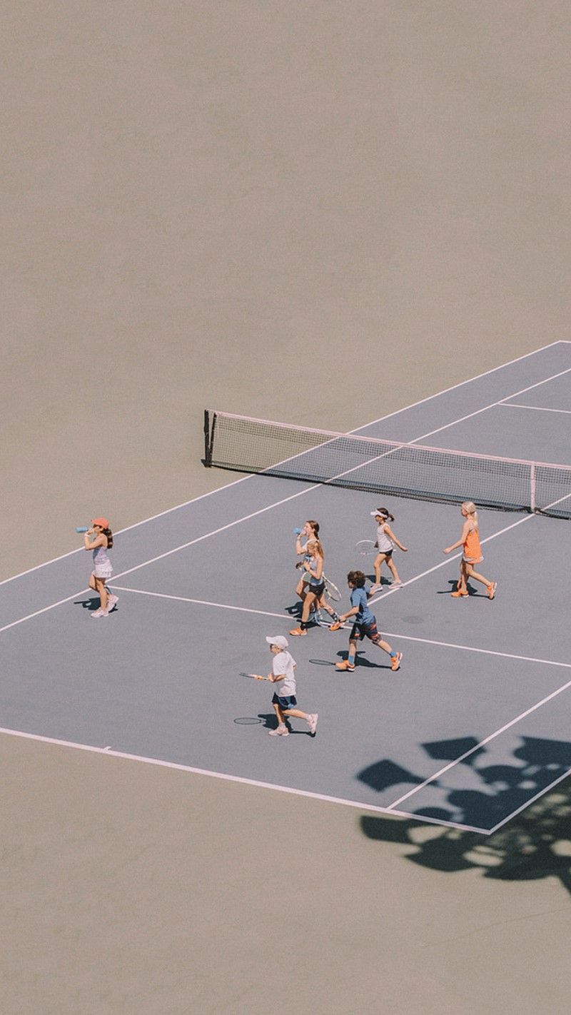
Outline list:
[[[431,757],[446,761],[461,755],[458,747],[470,742],[467,738],[424,746]],[[446,790],[440,806],[418,811],[411,797],[402,809],[419,818],[492,828],[523,808],[491,835],[369,815],[361,818],[361,830],[367,838],[403,844],[407,860],[433,871],[451,874],[480,869],[484,877],[501,881],[556,877],[571,894],[571,777],[525,807],[526,801],[569,771],[571,744],[522,737],[521,746],[513,752],[513,764],[487,764],[486,756],[482,748],[460,762],[477,773],[481,790]],[[414,787],[423,782],[389,760],[369,765],[358,777],[378,792],[399,786],[406,793],[407,784]],[[438,782],[434,785],[438,787]]]

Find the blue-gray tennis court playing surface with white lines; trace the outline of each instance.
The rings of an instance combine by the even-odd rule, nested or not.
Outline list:
[[[358,432],[570,465],[571,343]],[[364,641],[355,672],[338,672],[347,629],[290,638],[299,706],[318,713],[317,734],[294,719],[291,736],[269,737],[273,688],[240,673],[268,672],[265,636],[295,626],[292,530],[319,521],[327,572],[345,590],[379,504],[409,547],[397,551],[404,587],[373,600],[402,668]],[[442,549],[461,523],[457,504],[247,476],[116,536],[120,600],[108,618],[90,616],[82,549],[10,579],[3,732],[490,833],[571,770],[571,522],[480,512],[494,601],[481,586],[468,600],[449,595],[458,553]]]

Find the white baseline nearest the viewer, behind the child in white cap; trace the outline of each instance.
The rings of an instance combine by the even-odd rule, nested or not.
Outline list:
[[[180,764],[175,761],[161,761],[159,758],[148,758],[141,754],[127,754],[125,751],[115,751],[110,747],[92,747],[89,744],[77,744],[71,740],[56,740],[54,737],[43,737],[35,733],[24,733],[21,730],[9,730],[0,727],[0,733],[10,737],[22,737],[24,740],[38,740],[43,744],[55,744],[57,747],[72,747],[79,751],[89,751],[92,754],[103,754],[105,757],[123,758],[127,761],[143,761],[145,764],[158,765],[160,768],[173,768],[175,771],[189,771],[195,775],[208,775],[211,779],[222,779],[227,783],[242,783],[245,786],[256,786],[263,790],[278,790],[280,793],[290,793],[296,797],[310,797],[312,800],[325,800],[332,804],[345,804],[347,807],[357,807],[361,811],[373,811],[377,814],[389,814],[390,817],[412,818],[422,824],[443,825],[456,828],[459,831],[475,831],[488,835],[487,828],[477,828],[474,825],[457,824],[454,821],[437,820],[423,815],[411,814],[408,811],[396,811],[386,807],[375,807],[374,804],[362,804],[358,800],[345,800],[343,797],[331,797],[324,793],[312,793],[310,790],[297,790],[291,786],[279,786],[275,783],[262,783],[256,779],[245,779],[242,775],[230,775],[227,772],[210,771],[208,768],[195,768],[192,765]]]

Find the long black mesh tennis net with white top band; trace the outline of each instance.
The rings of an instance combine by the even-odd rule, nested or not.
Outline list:
[[[571,518],[571,467],[335,433],[212,409],[205,466],[351,489]]]

